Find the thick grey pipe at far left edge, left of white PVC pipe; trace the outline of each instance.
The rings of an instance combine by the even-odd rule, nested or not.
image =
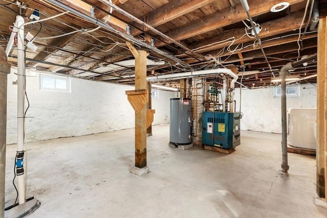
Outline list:
[[[0,46],[0,217],[5,215],[7,75],[10,67],[7,54]]]

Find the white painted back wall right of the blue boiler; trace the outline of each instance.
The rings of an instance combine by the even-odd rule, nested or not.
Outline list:
[[[316,107],[316,84],[300,85],[299,98],[287,98],[288,108]],[[235,90],[236,111],[240,108],[240,89]],[[281,97],[273,97],[273,87],[242,90],[241,129],[282,133]]]

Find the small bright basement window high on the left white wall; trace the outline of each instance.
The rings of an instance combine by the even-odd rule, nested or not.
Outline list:
[[[68,77],[57,77],[41,74],[40,90],[70,92],[71,80],[69,80]]]

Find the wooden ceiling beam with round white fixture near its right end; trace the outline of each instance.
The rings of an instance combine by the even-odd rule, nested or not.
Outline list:
[[[290,5],[303,2],[305,0],[289,0]],[[280,0],[269,0],[262,3],[262,0],[252,0],[249,2],[250,14],[252,17],[259,16],[270,12],[270,8],[277,3],[280,3]],[[226,8],[212,15],[206,16],[202,19],[196,20],[192,23],[188,23],[180,28],[168,31],[166,35],[175,39],[183,40],[186,38],[191,38],[193,36],[203,34],[218,28],[222,28],[232,23],[236,23],[247,19],[247,14],[244,11],[242,4],[238,4],[234,7]],[[162,37],[159,37],[162,41],[167,43],[172,43]],[[164,42],[157,41],[155,46],[160,47],[165,45]]]

